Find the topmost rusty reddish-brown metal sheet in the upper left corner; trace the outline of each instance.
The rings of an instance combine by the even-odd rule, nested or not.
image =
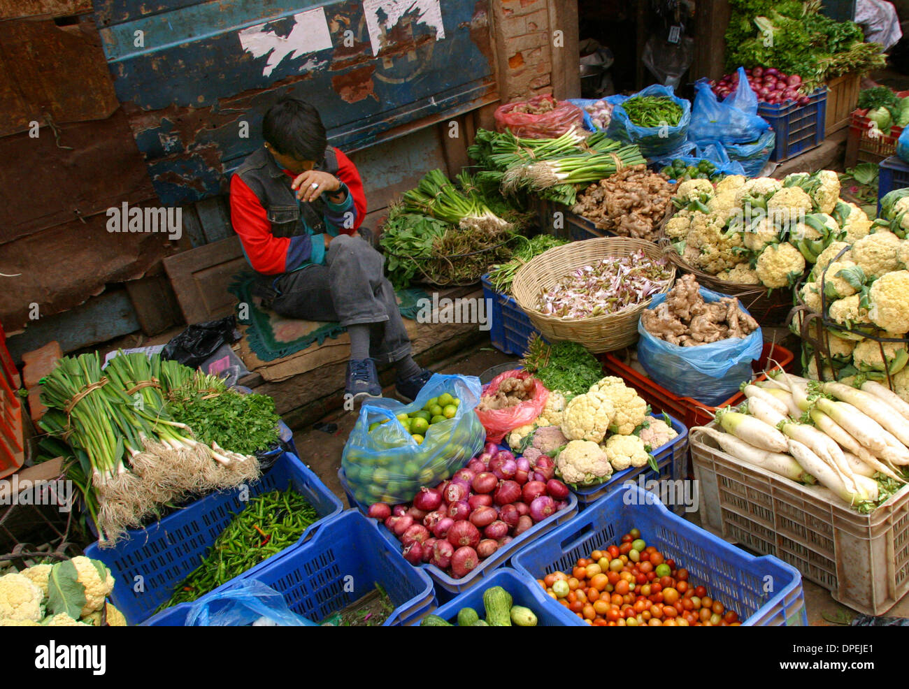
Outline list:
[[[103,119],[117,105],[90,16],[66,29],[53,20],[0,22],[0,136],[33,121]]]

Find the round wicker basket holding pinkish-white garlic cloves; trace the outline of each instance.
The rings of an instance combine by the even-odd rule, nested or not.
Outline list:
[[[556,282],[582,265],[593,265],[611,256],[626,256],[636,251],[654,260],[663,252],[653,242],[627,237],[601,237],[556,246],[536,256],[514,275],[512,295],[531,323],[550,342],[569,340],[584,345],[590,352],[612,352],[637,341],[637,322],[641,312],[650,304],[646,299],[640,304],[614,314],[594,315],[590,318],[564,319],[545,315],[537,309],[538,297]],[[661,292],[668,292],[675,279],[672,276]]]

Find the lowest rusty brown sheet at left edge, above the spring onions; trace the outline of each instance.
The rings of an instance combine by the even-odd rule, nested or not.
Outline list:
[[[60,313],[175,253],[166,235],[109,233],[106,222],[95,215],[0,245],[0,323],[7,334],[29,323],[33,304],[40,316]]]

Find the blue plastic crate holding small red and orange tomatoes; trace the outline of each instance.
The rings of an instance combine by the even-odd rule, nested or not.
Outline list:
[[[618,544],[633,528],[666,559],[687,569],[692,584],[703,584],[714,600],[734,610],[743,625],[808,624],[802,576],[793,566],[773,555],[755,557],[739,550],[672,514],[654,494],[634,485],[536,539],[514,555],[512,566],[534,579],[555,570],[570,572],[579,557]]]

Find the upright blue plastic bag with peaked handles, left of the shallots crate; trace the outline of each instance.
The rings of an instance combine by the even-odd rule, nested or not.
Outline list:
[[[741,68],[740,68],[741,69]],[[743,70],[744,73],[744,70]],[[738,91],[744,89],[754,96],[748,86],[747,78],[740,75]],[[718,141],[722,144],[740,144],[754,141],[770,129],[764,118],[756,115],[757,99],[754,98],[754,110],[747,112],[734,104],[750,108],[750,102],[738,91],[719,101],[710,84],[702,80],[694,85],[694,105],[691,109],[691,125],[688,126],[688,138],[695,143]]]

